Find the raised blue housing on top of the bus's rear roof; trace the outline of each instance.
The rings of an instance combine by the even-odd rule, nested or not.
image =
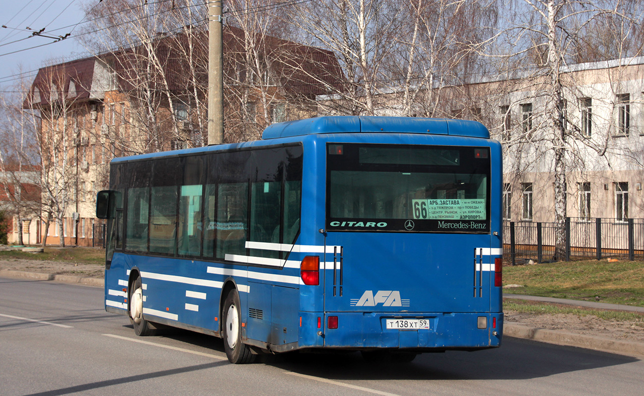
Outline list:
[[[263,140],[320,133],[422,133],[489,139],[488,129],[476,121],[417,117],[316,117],[280,122],[264,129]]]

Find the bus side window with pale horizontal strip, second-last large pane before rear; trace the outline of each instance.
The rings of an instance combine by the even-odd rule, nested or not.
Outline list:
[[[246,254],[248,184],[219,184],[216,220],[217,258]]]

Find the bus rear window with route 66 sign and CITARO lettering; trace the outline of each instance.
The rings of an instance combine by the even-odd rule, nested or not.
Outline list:
[[[489,232],[488,147],[343,146],[327,156],[328,230]]]

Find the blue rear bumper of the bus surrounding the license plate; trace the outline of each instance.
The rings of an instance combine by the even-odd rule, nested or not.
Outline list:
[[[476,350],[500,346],[503,313],[301,312],[299,348],[410,348],[415,350]],[[328,317],[337,328],[328,328]],[[320,327],[317,327],[317,318]],[[429,328],[387,328],[388,319],[426,319]]]

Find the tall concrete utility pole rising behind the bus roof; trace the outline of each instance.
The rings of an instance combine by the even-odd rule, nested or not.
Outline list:
[[[208,1],[208,145],[223,143],[222,0]]]

